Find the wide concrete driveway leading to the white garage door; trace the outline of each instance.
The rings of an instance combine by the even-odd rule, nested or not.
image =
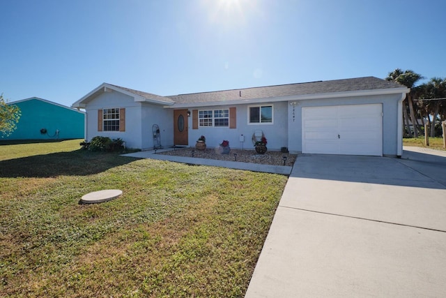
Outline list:
[[[246,297],[444,297],[446,152],[299,156]]]

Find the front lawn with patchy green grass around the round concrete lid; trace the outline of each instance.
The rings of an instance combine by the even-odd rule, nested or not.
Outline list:
[[[243,297],[286,179],[0,146],[0,297]],[[78,204],[105,188],[123,195]]]

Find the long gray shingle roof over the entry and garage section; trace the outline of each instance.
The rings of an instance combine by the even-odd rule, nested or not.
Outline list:
[[[344,80],[284,84],[267,87],[201,92],[195,94],[180,94],[166,97],[171,98],[175,103],[211,103],[229,100],[247,100],[392,88],[405,87],[394,82],[378,79],[378,77],[357,77]]]

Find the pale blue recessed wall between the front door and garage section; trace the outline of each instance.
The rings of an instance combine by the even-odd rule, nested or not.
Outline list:
[[[288,123],[287,103],[262,103],[261,105],[272,105],[272,124],[248,124],[248,107],[252,105],[222,105],[216,107],[193,107],[190,110],[220,110],[236,107],[237,127],[200,127],[192,129],[192,115],[188,117],[189,145],[193,147],[201,135],[206,137],[208,148],[218,147],[223,140],[229,140],[229,146],[233,149],[252,149],[252,134],[256,130],[263,131],[268,140],[268,150],[280,150],[288,147]],[[172,131],[173,132],[173,131]],[[240,142],[240,135],[245,137],[245,142]]]

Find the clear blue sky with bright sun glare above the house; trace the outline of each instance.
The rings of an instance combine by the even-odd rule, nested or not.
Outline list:
[[[102,82],[162,96],[446,77],[444,0],[0,0],[0,93],[72,105]]]

